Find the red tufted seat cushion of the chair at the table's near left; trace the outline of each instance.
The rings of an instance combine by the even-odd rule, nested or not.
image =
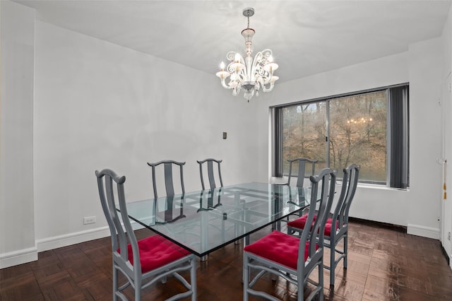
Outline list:
[[[127,249],[129,251],[129,261],[133,265],[133,254],[130,244],[127,245]],[[140,250],[142,273],[160,268],[160,266],[165,266],[165,264],[190,254],[186,249],[179,247],[174,242],[160,235],[153,235],[143,240],[138,240],[138,249]],[[118,252],[121,253],[119,249]]]

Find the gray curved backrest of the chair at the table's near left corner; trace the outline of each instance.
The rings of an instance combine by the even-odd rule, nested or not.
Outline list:
[[[113,259],[122,268],[124,273],[139,279],[141,277],[140,254],[138,252],[138,243],[133,232],[129,216],[127,215],[126,199],[124,197],[124,182],[126,177],[119,177],[112,170],[102,170],[95,172],[97,177],[97,187],[99,189],[100,203],[107,219],[110,234],[112,235],[112,254]],[[115,194],[121,211],[121,219],[115,206]],[[121,226],[124,223],[124,229]],[[126,234],[127,233],[127,234]],[[129,241],[128,241],[129,240]],[[133,265],[129,262],[129,250],[127,244],[131,245],[133,254]],[[121,250],[119,253],[118,250]]]

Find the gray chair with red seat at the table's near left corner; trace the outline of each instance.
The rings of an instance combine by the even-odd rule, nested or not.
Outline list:
[[[99,189],[100,203],[112,237],[113,258],[113,300],[127,300],[123,291],[131,286],[134,300],[141,300],[141,290],[155,285],[157,281],[166,283],[167,276],[173,276],[186,292],[173,295],[169,300],[178,300],[191,296],[196,300],[196,259],[186,249],[160,235],[136,240],[135,233],[127,213],[124,194],[126,177],[119,177],[112,170],[95,172]],[[115,205],[115,196],[119,202],[119,217]],[[121,225],[124,224],[124,228]],[[190,283],[179,273],[189,271]],[[125,276],[125,283],[119,286],[119,272]]]

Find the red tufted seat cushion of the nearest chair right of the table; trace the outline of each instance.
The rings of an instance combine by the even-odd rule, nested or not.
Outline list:
[[[299,238],[280,231],[273,231],[254,244],[244,247],[244,251],[274,261],[288,268],[297,269]],[[309,242],[304,249],[304,261],[308,258]],[[316,249],[319,247],[316,245]]]

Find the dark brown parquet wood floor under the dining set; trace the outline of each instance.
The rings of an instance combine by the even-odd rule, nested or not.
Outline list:
[[[256,232],[251,241],[268,232]],[[150,234],[136,231],[138,238]],[[348,268],[340,264],[325,300],[452,300],[452,270],[438,240],[362,220],[350,222],[349,235]],[[230,244],[197,261],[198,300],[242,300],[242,247]],[[112,300],[111,260],[109,237],[41,252],[37,261],[0,270],[0,300]],[[324,277],[328,283],[328,271]],[[258,285],[281,300],[296,300],[297,289],[282,278],[263,277]],[[168,278],[143,290],[143,300],[183,290]],[[131,290],[127,295],[133,299]]]

